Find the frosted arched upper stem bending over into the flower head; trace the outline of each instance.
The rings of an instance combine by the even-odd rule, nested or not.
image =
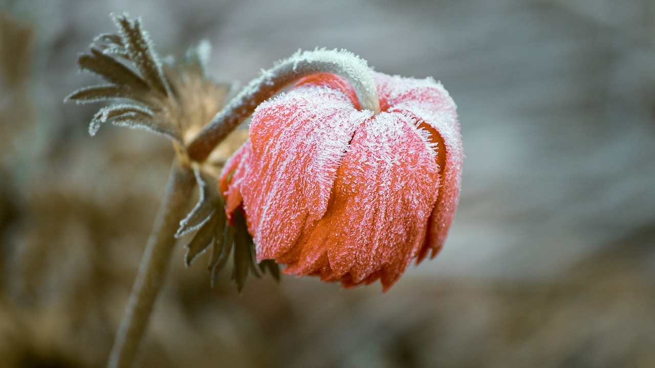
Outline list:
[[[204,161],[215,145],[250,116],[260,103],[288,84],[314,73],[341,75],[352,84],[363,109],[376,114],[380,112],[373,70],[365,60],[344,50],[297,52],[291,58],[263,71],[205,126],[187,147],[191,160]]]

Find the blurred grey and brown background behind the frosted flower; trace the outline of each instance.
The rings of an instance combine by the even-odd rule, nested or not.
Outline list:
[[[433,76],[467,156],[445,248],[384,295],[211,289],[180,246],[141,366],[655,367],[653,1],[0,4],[0,367],[103,367],[121,318],[173,151],[62,100],[122,11],[160,54],[209,39],[217,80],[315,46]]]

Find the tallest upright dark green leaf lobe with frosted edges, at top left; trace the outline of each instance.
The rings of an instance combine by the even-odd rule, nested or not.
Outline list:
[[[122,43],[130,60],[151,88],[168,95],[168,83],[164,79],[161,64],[153,49],[148,33],[141,27],[141,18],[130,21],[127,14],[115,16],[114,21],[120,29]]]

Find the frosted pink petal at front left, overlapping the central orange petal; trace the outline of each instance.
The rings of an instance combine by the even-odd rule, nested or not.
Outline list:
[[[257,259],[284,255],[323,217],[348,141],[370,116],[343,92],[314,85],[257,107],[241,185]]]

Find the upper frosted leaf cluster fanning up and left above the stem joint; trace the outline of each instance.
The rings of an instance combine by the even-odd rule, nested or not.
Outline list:
[[[90,52],[77,60],[80,69],[110,84],[77,90],[65,101],[120,100],[119,103],[143,105],[154,112],[149,117],[138,111],[119,114],[120,117],[112,113],[110,117],[108,110],[102,110],[92,120],[89,130],[92,135],[111,119],[118,126],[148,130],[187,143],[223,107],[229,91],[229,86],[215,83],[204,73],[211,46],[201,41],[182,58],[170,56],[162,64],[140,19],[123,14],[113,16],[113,20],[119,31],[96,37]]]

